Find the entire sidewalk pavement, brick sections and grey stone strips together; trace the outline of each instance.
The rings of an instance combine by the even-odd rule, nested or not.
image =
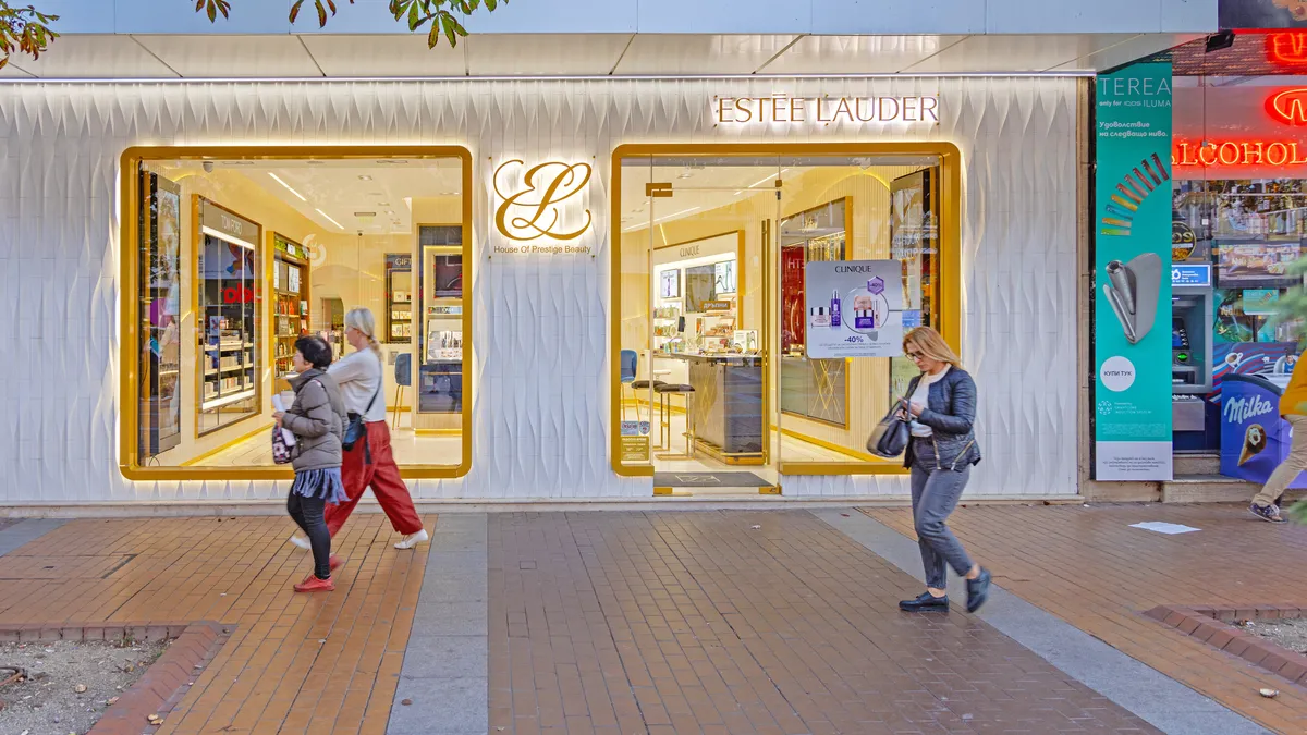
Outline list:
[[[1263,732],[1227,706],[1307,731],[1307,691],[1249,702],[1273,675],[1140,615],[1298,599],[1295,575],[1242,570],[1307,562],[1307,530],[1213,507],[962,509],[1002,590],[979,616],[912,616],[904,518],[444,514],[430,549],[397,552],[361,514],[337,592],[308,596],[289,590],[308,556],[285,518],[24,521],[0,530],[0,625],[231,623],[162,735]],[[1125,530],[1140,519],[1204,531]]]

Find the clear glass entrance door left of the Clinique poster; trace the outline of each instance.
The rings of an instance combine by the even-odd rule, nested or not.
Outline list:
[[[631,394],[647,424],[655,487],[776,487],[770,344],[775,157],[648,157],[623,166],[623,285],[646,296]],[[634,197],[633,197],[634,199]],[[623,195],[623,204],[627,197]],[[629,360],[630,352],[623,353]],[[626,370],[631,373],[633,370]],[[623,417],[625,424],[625,417]]]

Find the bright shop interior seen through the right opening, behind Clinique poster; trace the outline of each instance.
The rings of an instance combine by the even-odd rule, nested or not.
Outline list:
[[[673,494],[775,492],[782,463],[891,471],[865,442],[916,370],[903,357],[810,358],[809,331],[885,314],[865,290],[810,307],[805,267],[895,260],[894,320],[938,326],[938,163],[625,157],[621,433],[623,446],[647,437],[648,454],[621,460],[652,464]]]

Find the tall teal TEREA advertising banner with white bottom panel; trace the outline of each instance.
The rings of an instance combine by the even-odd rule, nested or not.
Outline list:
[[[1171,64],[1099,76],[1095,479],[1171,479]]]

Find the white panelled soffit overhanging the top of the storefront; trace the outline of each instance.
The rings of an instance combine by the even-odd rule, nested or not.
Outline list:
[[[474,34],[457,48],[417,35],[64,35],[4,80],[1085,73],[1196,34],[652,35]]]

